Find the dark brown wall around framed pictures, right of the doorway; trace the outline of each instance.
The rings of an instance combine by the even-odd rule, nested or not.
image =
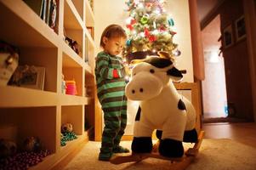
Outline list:
[[[242,0],[225,1],[219,8],[221,30],[232,24],[235,37],[235,20],[243,14]],[[253,121],[252,86],[249,70],[247,41],[236,42],[223,51],[227,98],[235,105],[236,117]]]

